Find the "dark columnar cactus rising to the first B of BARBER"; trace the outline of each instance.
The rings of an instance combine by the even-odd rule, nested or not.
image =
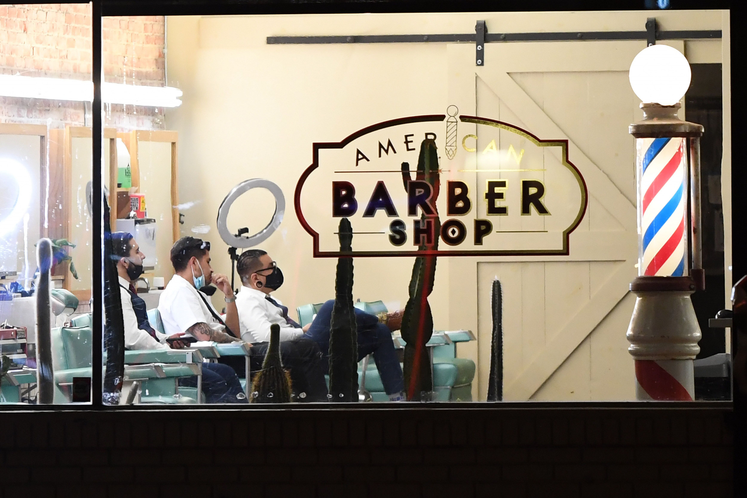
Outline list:
[[[340,220],[340,252],[353,250],[353,227]],[[329,324],[329,396],[333,402],[358,401],[358,330],[353,307],[353,258],[338,258],[335,305]]]

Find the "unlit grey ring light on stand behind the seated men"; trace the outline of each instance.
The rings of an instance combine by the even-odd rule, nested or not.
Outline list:
[[[275,213],[273,213],[273,219],[270,220],[267,226],[262,228],[256,234],[253,234],[249,237],[237,237],[236,235],[232,234],[231,231],[229,231],[229,227],[227,224],[229,210],[231,209],[231,205],[233,204],[233,202],[238,199],[241,194],[252,190],[252,188],[264,188],[270,190],[270,193],[273,194],[273,197],[275,197]],[[220,238],[223,239],[223,242],[228,244],[230,247],[247,249],[247,247],[256,246],[258,243],[262,243],[264,242],[264,240],[267,240],[267,237],[270,237],[270,235],[272,235],[273,232],[276,231],[280,226],[284,214],[285,196],[282,195],[282,190],[280,190],[280,187],[278,187],[277,184],[273,183],[270,180],[264,180],[262,178],[252,178],[250,180],[245,180],[233,187],[229,192],[229,195],[226,196],[226,199],[223,199],[223,202],[220,203],[220,208],[218,208],[217,221],[218,234],[220,234]]]

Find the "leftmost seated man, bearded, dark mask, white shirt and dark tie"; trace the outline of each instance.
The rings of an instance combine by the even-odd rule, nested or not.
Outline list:
[[[117,273],[120,281],[120,295],[122,297],[122,317],[125,324],[126,349],[181,349],[184,343],[178,340],[183,332],[167,335],[153,329],[148,320],[146,304],[143,298],[137,296],[132,282],[143,274],[143,260],[145,255],[140,252],[140,246],[125,231],[111,234],[114,258],[117,258]],[[167,339],[170,339],[167,343]],[[179,379],[179,385],[196,387],[196,377]],[[202,364],[202,392],[208,403],[246,403],[247,396],[241,388],[235,371],[217,363]]]

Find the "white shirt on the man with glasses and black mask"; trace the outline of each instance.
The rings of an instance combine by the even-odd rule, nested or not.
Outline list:
[[[288,324],[282,316],[282,310],[265,299],[267,294],[252,287],[241,287],[236,294],[236,308],[238,308],[238,323],[241,327],[241,340],[248,343],[263,343],[270,341],[270,325],[280,326],[280,340],[291,340],[303,335],[302,329],[296,329]],[[163,298],[161,298],[163,299]],[[279,299],[273,299],[282,305]]]

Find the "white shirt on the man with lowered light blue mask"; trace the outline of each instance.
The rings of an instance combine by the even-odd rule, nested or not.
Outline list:
[[[202,293],[205,297],[203,301],[198,293],[199,290],[179,275],[171,277],[164,292],[161,293],[161,299],[158,299],[158,311],[161,313],[161,321],[168,335],[177,332],[186,333],[187,329],[195,323],[207,323],[211,329],[225,331],[225,328],[210,313],[210,308],[212,308],[215,314],[218,314],[210,302],[210,297]],[[205,305],[205,302],[208,305]],[[190,334],[186,333],[186,335]]]

